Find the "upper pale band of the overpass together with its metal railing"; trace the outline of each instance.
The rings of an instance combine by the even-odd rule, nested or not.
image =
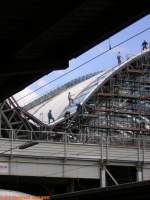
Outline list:
[[[23,134],[28,133],[26,139],[19,139],[16,137],[18,130],[4,130],[9,132],[9,138],[0,138],[0,155],[21,153],[30,156],[73,157],[100,159],[101,161],[150,162],[150,136],[119,137],[93,134],[87,137],[84,134],[73,136],[69,133],[52,131],[19,131]],[[23,151],[15,148],[27,141],[38,141],[38,145]]]

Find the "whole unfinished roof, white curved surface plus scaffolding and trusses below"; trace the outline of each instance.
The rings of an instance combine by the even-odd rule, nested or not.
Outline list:
[[[84,142],[92,143],[98,142],[97,136],[108,134],[115,140],[118,135],[129,138],[139,133],[149,137],[149,66],[150,49],[146,49],[49,99],[43,98],[45,101],[39,101],[29,110],[9,98],[1,105],[2,128],[19,129],[18,138],[29,138],[26,131],[44,130],[55,132],[57,137],[67,132],[73,135],[74,141],[82,141],[86,139],[80,137],[82,133],[88,136]],[[68,99],[69,92],[73,102]],[[51,120],[49,110],[52,110]],[[9,131],[3,131],[2,135],[8,136]]]

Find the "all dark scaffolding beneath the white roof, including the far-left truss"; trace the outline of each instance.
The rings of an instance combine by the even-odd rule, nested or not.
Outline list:
[[[88,92],[92,87],[96,89],[82,103],[82,109],[63,116],[63,120],[54,125],[44,124],[9,98],[1,104],[1,128],[53,131],[58,136],[64,132],[71,140],[84,143],[95,143],[101,135],[114,136],[116,140],[119,136],[150,137],[150,51],[114,69],[109,70],[107,78],[105,73],[98,78],[103,79],[101,84],[96,80],[87,86]]]

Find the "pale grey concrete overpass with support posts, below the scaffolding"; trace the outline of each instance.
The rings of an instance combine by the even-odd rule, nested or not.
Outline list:
[[[64,141],[53,142],[47,138],[21,150],[16,147],[27,141],[1,138],[0,174],[99,179],[105,187],[106,175],[119,184],[111,167],[133,167],[137,181],[150,178],[150,138],[105,139],[93,144],[72,143],[64,134]]]

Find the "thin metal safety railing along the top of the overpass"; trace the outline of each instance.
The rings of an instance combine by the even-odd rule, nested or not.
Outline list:
[[[55,131],[29,131],[29,130],[17,130],[17,129],[0,129],[0,138],[12,138],[13,140],[39,140],[48,142],[61,142],[67,143],[82,143],[82,144],[110,144],[117,146],[137,146],[140,143],[141,146],[146,145],[150,147],[150,135],[149,134],[134,134],[123,133],[116,135],[109,135],[101,132],[90,133],[67,133],[67,132],[55,132]]]

